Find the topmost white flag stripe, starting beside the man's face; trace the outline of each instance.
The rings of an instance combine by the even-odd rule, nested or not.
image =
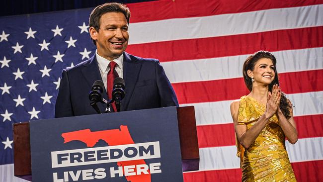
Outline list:
[[[284,17],[284,18],[282,18]],[[323,5],[130,23],[129,44],[323,25]]]

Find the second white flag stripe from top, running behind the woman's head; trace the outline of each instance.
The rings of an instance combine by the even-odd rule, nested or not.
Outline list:
[[[271,52],[278,73],[323,69],[323,47]],[[161,63],[171,83],[210,81],[242,77],[249,55]],[[185,69],[183,69],[185,68]]]

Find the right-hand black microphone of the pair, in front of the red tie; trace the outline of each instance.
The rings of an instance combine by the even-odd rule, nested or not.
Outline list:
[[[120,112],[121,100],[125,96],[125,81],[117,77],[113,81],[112,100],[114,100],[117,111]]]

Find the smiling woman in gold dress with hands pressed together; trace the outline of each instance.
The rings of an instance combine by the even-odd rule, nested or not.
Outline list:
[[[243,78],[250,93],[231,103],[242,182],[295,182],[285,137],[295,144],[298,136],[292,104],[279,87],[276,58],[267,51],[249,56]]]

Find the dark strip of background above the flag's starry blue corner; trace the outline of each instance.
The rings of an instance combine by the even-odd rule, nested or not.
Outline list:
[[[1,0],[0,16],[95,7],[105,2],[135,3],[152,0]]]

